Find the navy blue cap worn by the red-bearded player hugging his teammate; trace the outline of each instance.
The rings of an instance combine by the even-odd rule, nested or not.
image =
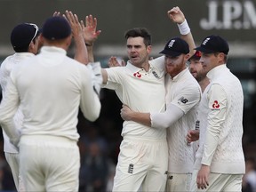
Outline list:
[[[168,43],[164,46],[164,50],[159,53],[176,57],[182,53],[188,54],[188,52],[189,52],[188,43],[183,39],[181,39],[180,37],[174,37],[168,41]]]

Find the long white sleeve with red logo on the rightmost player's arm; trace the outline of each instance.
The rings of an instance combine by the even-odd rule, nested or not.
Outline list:
[[[218,146],[222,124],[225,121],[228,108],[228,97],[220,84],[212,84],[208,92],[208,107],[211,112],[207,116],[206,138],[202,164],[211,165],[212,157]]]

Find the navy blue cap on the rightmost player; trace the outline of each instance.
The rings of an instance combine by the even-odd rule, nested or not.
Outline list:
[[[228,42],[220,36],[207,36],[199,47],[196,47],[197,51],[212,53],[223,52],[228,54],[229,46]]]

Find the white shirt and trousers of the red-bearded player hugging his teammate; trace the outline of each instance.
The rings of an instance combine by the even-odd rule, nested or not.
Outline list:
[[[166,76],[165,90],[167,110],[160,114],[151,113],[151,122],[153,125],[169,126],[167,129],[169,154],[167,188],[171,191],[189,191],[194,153],[192,146],[188,145],[186,135],[188,130],[195,129],[197,108],[201,100],[201,88],[188,68],[185,68],[173,79],[171,76]],[[180,112],[172,106],[180,108]],[[174,111],[172,111],[173,108]],[[166,114],[172,117],[168,118]],[[167,120],[160,121],[159,118],[163,118],[160,116],[165,116]],[[170,180],[169,176],[172,179],[175,178]]]

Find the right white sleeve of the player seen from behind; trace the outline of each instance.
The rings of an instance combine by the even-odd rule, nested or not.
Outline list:
[[[93,90],[92,78],[88,68],[84,68],[81,78],[82,86],[80,108],[86,119],[89,121],[95,121],[100,116],[101,104],[98,94]]]

